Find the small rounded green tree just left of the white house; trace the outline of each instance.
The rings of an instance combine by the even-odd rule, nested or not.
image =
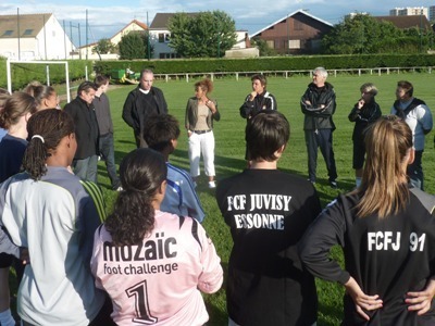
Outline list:
[[[119,51],[121,60],[147,59],[148,58],[148,33],[130,32],[124,35],[119,42]],[[150,46],[150,57],[152,57],[153,48]]]

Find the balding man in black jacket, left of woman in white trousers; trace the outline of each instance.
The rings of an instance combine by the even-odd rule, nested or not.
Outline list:
[[[144,70],[140,83],[132,90],[124,103],[123,120],[133,128],[136,146],[148,147],[144,139],[144,125],[148,116],[167,113],[167,104],[161,89],[153,87],[154,74]]]

